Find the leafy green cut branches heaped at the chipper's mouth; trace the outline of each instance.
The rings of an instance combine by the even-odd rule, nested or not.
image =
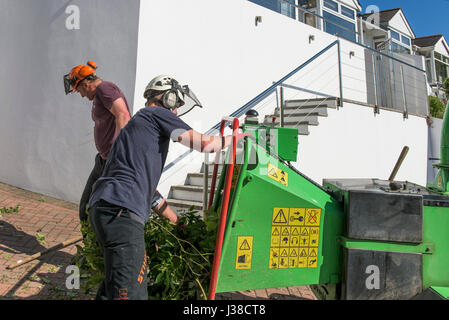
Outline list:
[[[148,298],[158,300],[206,299],[212,269],[218,214],[206,212],[203,220],[191,208],[175,226],[151,214],[145,225],[148,256]],[[85,262],[78,265],[87,277],[86,292],[96,289],[104,278],[101,249],[89,223],[82,224],[84,247],[78,253]]]

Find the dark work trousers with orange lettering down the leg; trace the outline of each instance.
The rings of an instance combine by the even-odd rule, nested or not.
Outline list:
[[[100,200],[89,208],[100,243],[105,278],[97,300],[148,300],[144,224],[135,213]]]

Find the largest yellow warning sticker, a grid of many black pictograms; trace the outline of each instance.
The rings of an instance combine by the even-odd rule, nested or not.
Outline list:
[[[320,224],[319,208],[273,208],[269,268],[317,268]]]

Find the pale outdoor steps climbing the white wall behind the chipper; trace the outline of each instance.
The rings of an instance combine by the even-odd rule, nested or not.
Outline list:
[[[298,128],[298,134],[309,135],[309,126],[318,126],[319,117],[327,117],[328,108],[337,108],[337,98],[308,99],[308,100],[287,100],[284,104],[284,126]],[[280,110],[276,108],[274,114],[264,117],[264,124],[271,125],[273,117],[276,117],[275,126],[280,123]],[[218,173],[221,173],[219,165]],[[208,165],[208,195],[212,179],[213,164]],[[218,179],[217,179],[218,184]],[[167,203],[178,214],[188,211],[191,207],[194,210],[203,210],[203,188],[204,185],[204,163],[199,172],[188,173],[184,185],[171,186]]]

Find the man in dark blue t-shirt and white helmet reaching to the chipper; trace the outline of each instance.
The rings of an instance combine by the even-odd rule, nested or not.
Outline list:
[[[232,143],[232,136],[202,135],[177,116],[184,91],[171,77],[151,80],[144,97],[146,108],[120,131],[89,200],[89,220],[105,264],[97,299],[148,299],[144,225],[170,139],[199,152],[216,152]],[[162,215],[178,222],[170,211]]]

